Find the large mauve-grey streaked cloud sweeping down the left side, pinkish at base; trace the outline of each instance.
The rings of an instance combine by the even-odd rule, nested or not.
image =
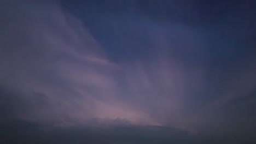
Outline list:
[[[39,122],[120,117],[154,123],[145,118],[147,113],[119,100],[115,73],[120,66],[104,56],[82,22],[55,3],[3,3],[1,84],[25,101],[16,106],[25,107],[19,117]]]

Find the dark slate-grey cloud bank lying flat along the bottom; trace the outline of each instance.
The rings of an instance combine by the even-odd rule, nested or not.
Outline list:
[[[116,125],[112,127],[54,127],[20,119],[1,123],[2,143],[250,143],[252,136],[193,135],[171,127]],[[246,139],[245,139],[246,138]]]

